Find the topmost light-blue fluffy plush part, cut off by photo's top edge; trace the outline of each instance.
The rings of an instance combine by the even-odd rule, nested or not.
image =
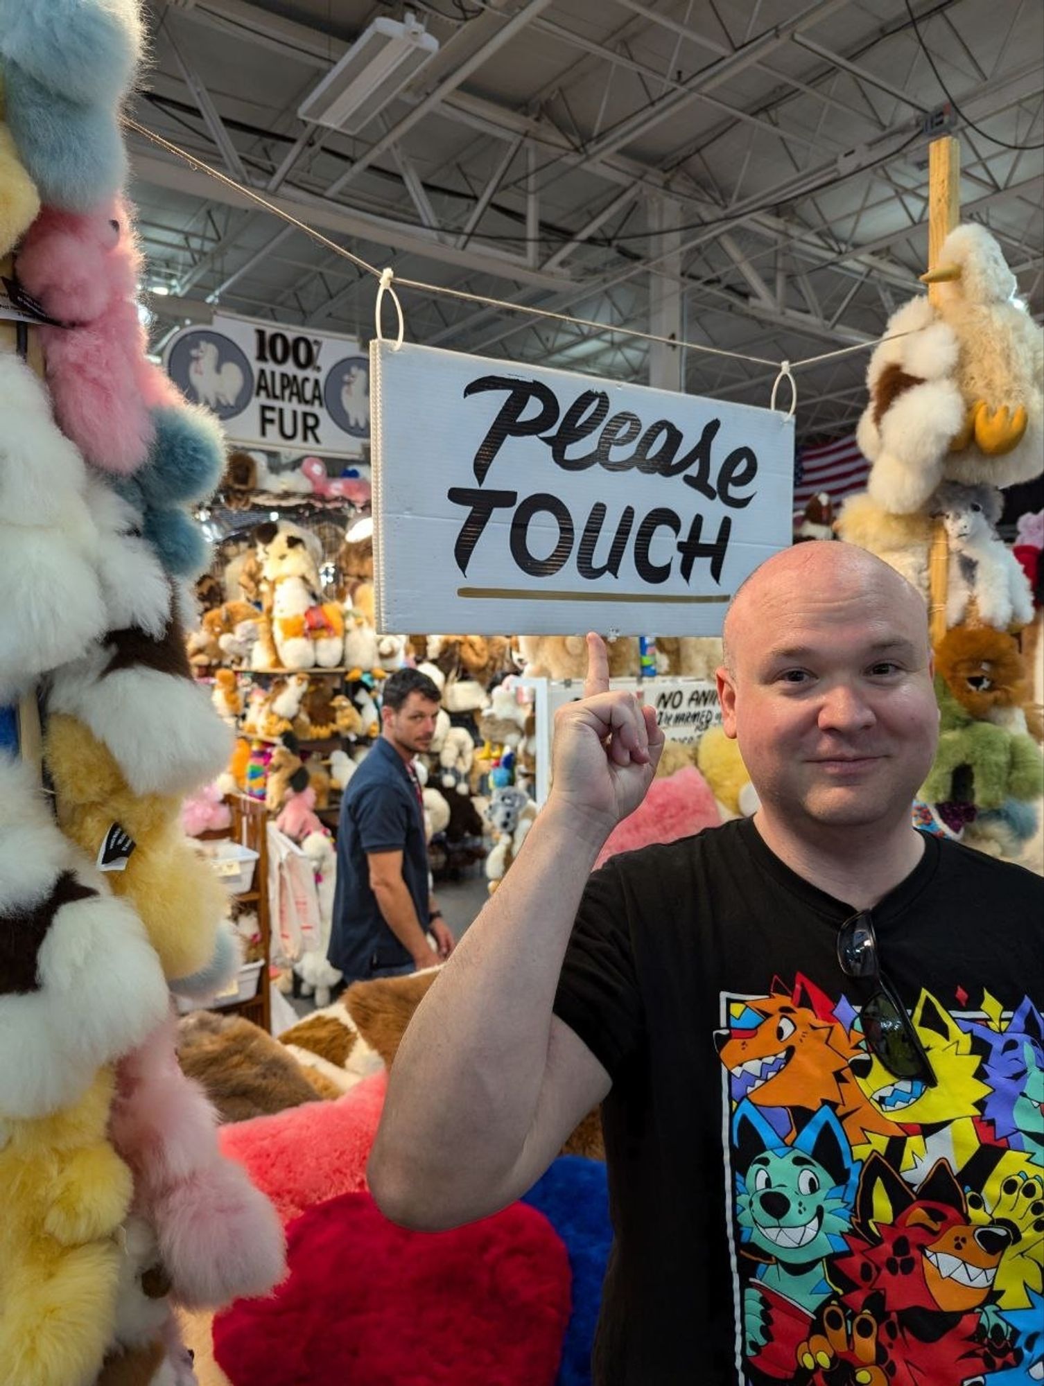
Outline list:
[[[0,54],[68,101],[112,112],[141,50],[137,0],[0,0]]]

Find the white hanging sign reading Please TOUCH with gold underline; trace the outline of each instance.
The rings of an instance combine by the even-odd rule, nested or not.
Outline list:
[[[788,547],[793,420],[370,344],[379,628],[717,635]]]

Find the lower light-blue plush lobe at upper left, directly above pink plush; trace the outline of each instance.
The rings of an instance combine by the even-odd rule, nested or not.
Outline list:
[[[17,62],[4,64],[3,78],[11,139],[40,201],[89,212],[115,197],[128,176],[115,111],[69,101]]]

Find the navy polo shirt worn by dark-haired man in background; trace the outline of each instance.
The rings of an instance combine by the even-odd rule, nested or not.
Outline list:
[[[367,852],[402,852],[402,877],[417,919],[428,923],[428,852],[424,819],[402,757],[383,736],[352,775],[337,830],[337,887],[327,956],[351,981],[374,967],[405,967],[413,958],[384,922],[370,890]]]

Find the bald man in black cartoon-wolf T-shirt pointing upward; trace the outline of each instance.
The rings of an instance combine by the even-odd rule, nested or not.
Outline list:
[[[763,564],[717,672],[758,814],[595,875],[663,737],[588,647],[548,804],[399,1049],[380,1207],[489,1214],[602,1103],[598,1386],[1015,1361],[991,1286],[1040,1289],[1001,1261],[1037,1264],[1044,1225],[1044,887],[911,826],[939,729],[923,602],[842,543]]]

